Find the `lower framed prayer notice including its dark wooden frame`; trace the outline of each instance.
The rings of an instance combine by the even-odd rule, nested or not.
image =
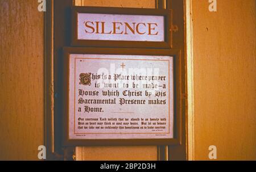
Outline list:
[[[180,144],[179,51],[64,48],[64,146]]]

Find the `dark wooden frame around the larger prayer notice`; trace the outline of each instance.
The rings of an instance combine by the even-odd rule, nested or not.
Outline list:
[[[69,54],[134,54],[148,56],[174,57],[174,139],[69,139]],[[106,145],[180,145],[181,111],[180,111],[180,51],[170,49],[127,49],[127,48],[64,48],[64,146],[106,146]]]

